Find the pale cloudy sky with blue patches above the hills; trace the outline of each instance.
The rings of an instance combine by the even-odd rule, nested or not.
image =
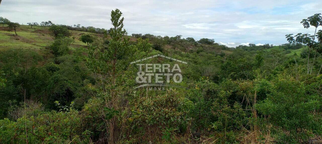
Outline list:
[[[286,34],[314,33],[300,21],[322,13],[310,0],[2,0],[0,16],[109,29],[110,11],[120,9],[129,34],[211,38],[219,44],[285,44]],[[321,29],[321,28],[320,28]]]

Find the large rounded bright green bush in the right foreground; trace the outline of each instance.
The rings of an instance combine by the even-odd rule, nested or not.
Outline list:
[[[288,131],[290,136],[300,135],[310,130],[319,130],[314,119],[322,103],[314,90],[290,78],[278,77],[274,80],[273,91],[267,99],[255,105],[260,114],[267,117],[269,123]],[[312,129],[313,128],[313,129]]]

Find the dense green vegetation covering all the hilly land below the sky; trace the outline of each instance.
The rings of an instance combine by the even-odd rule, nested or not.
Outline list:
[[[321,30],[229,48],[127,36],[121,15],[109,30],[0,18],[0,143],[321,142]],[[320,15],[304,27],[320,28]],[[129,63],[156,54],[188,62],[180,87],[134,89]]]

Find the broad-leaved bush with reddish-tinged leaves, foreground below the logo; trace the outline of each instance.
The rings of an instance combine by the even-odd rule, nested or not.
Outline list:
[[[185,109],[182,109],[184,105],[175,90],[154,97],[136,96],[128,123],[141,138],[144,135],[156,138],[156,135],[161,134],[162,139],[170,140],[175,133],[187,130],[190,118],[187,117]]]

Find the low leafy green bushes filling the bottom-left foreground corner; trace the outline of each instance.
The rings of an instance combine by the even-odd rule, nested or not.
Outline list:
[[[33,111],[29,109],[28,111]],[[34,111],[37,112],[37,111]],[[25,126],[26,123],[26,126]],[[0,120],[0,141],[3,143],[89,143],[90,131],[82,131],[80,114],[67,111],[50,111],[35,116],[23,116],[17,121]]]

